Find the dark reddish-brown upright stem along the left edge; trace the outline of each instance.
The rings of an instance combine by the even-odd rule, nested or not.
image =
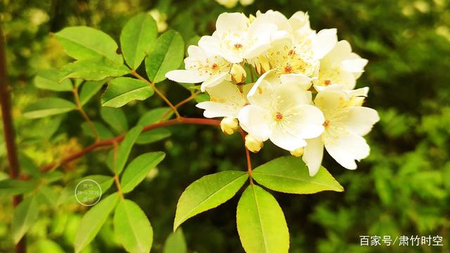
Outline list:
[[[4,136],[6,142],[6,153],[8,156],[9,164],[9,176],[11,179],[18,179],[20,174],[19,170],[19,160],[17,155],[17,149],[15,146],[15,134],[13,126],[13,117],[11,115],[11,98],[9,95],[9,85],[8,85],[8,72],[6,71],[6,54],[5,54],[5,41],[2,29],[2,24],[0,22],[0,103],[1,103],[1,113],[3,115],[3,128]],[[15,195],[13,197],[13,206],[17,207],[22,201],[21,195]],[[25,242],[25,235],[23,238],[15,245],[16,253],[24,253],[27,251],[27,245]]]

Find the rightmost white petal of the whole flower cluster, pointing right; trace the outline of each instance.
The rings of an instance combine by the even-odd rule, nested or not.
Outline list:
[[[378,112],[372,108],[355,106],[345,108],[345,111],[342,115],[342,124],[345,124],[348,131],[352,131],[359,136],[368,134],[373,124],[380,120]]]

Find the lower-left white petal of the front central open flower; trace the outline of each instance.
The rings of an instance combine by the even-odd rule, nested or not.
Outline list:
[[[246,132],[260,141],[269,138],[270,115],[264,108],[257,105],[247,105],[238,114],[239,124]]]

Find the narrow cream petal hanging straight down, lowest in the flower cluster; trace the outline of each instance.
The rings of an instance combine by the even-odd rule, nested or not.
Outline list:
[[[302,160],[309,169],[309,176],[314,176],[319,171],[323,159],[323,143],[320,137],[307,139]]]

